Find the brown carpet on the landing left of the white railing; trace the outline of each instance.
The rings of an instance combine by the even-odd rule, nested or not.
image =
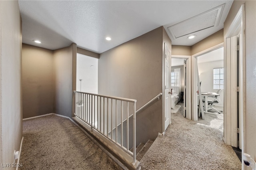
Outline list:
[[[20,170],[120,170],[69,119],[50,115],[23,121]]]

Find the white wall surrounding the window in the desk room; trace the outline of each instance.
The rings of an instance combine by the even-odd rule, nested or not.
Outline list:
[[[213,89],[213,69],[224,67],[224,60],[198,63],[198,73],[201,83],[202,92],[217,92]],[[220,100],[224,101],[223,91],[220,94]]]

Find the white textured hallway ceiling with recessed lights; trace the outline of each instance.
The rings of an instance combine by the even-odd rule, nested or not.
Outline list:
[[[223,28],[232,2],[232,0],[19,0],[22,42],[52,50],[76,43],[83,49],[102,53],[164,26],[173,45],[193,45]],[[223,9],[218,13],[220,15],[218,20],[217,13],[212,10],[223,4]],[[214,26],[201,31],[198,31],[200,27],[195,29],[198,23],[210,19],[215,23]],[[215,22],[216,20],[218,23]],[[194,34],[196,38],[189,40],[187,39],[189,35],[173,38],[168,27],[177,26],[176,24],[182,26],[181,29],[184,29],[182,32]],[[112,40],[105,40],[107,36]],[[42,43],[35,44],[32,40],[40,40]]]

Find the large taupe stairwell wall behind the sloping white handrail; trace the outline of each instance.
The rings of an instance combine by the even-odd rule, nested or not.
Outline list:
[[[136,99],[138,110],[162,93],[163,30],[157,28],[101,53],[99,94]],[[137,145],[162,132],[162,99],[137,115],[136,130]]]

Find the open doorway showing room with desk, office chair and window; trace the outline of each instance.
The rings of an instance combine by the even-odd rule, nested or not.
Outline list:
[[[217,128],[224,133],[224,47],[217,47],[202,55],[196,56],[198,67],[197,82],[200,94],[197,94],[199,123]],[[202,102],[203,112],[200,108]],[[203,117],[204,114],[204,117]],[[204,119],[203,121],[201,121]]]

